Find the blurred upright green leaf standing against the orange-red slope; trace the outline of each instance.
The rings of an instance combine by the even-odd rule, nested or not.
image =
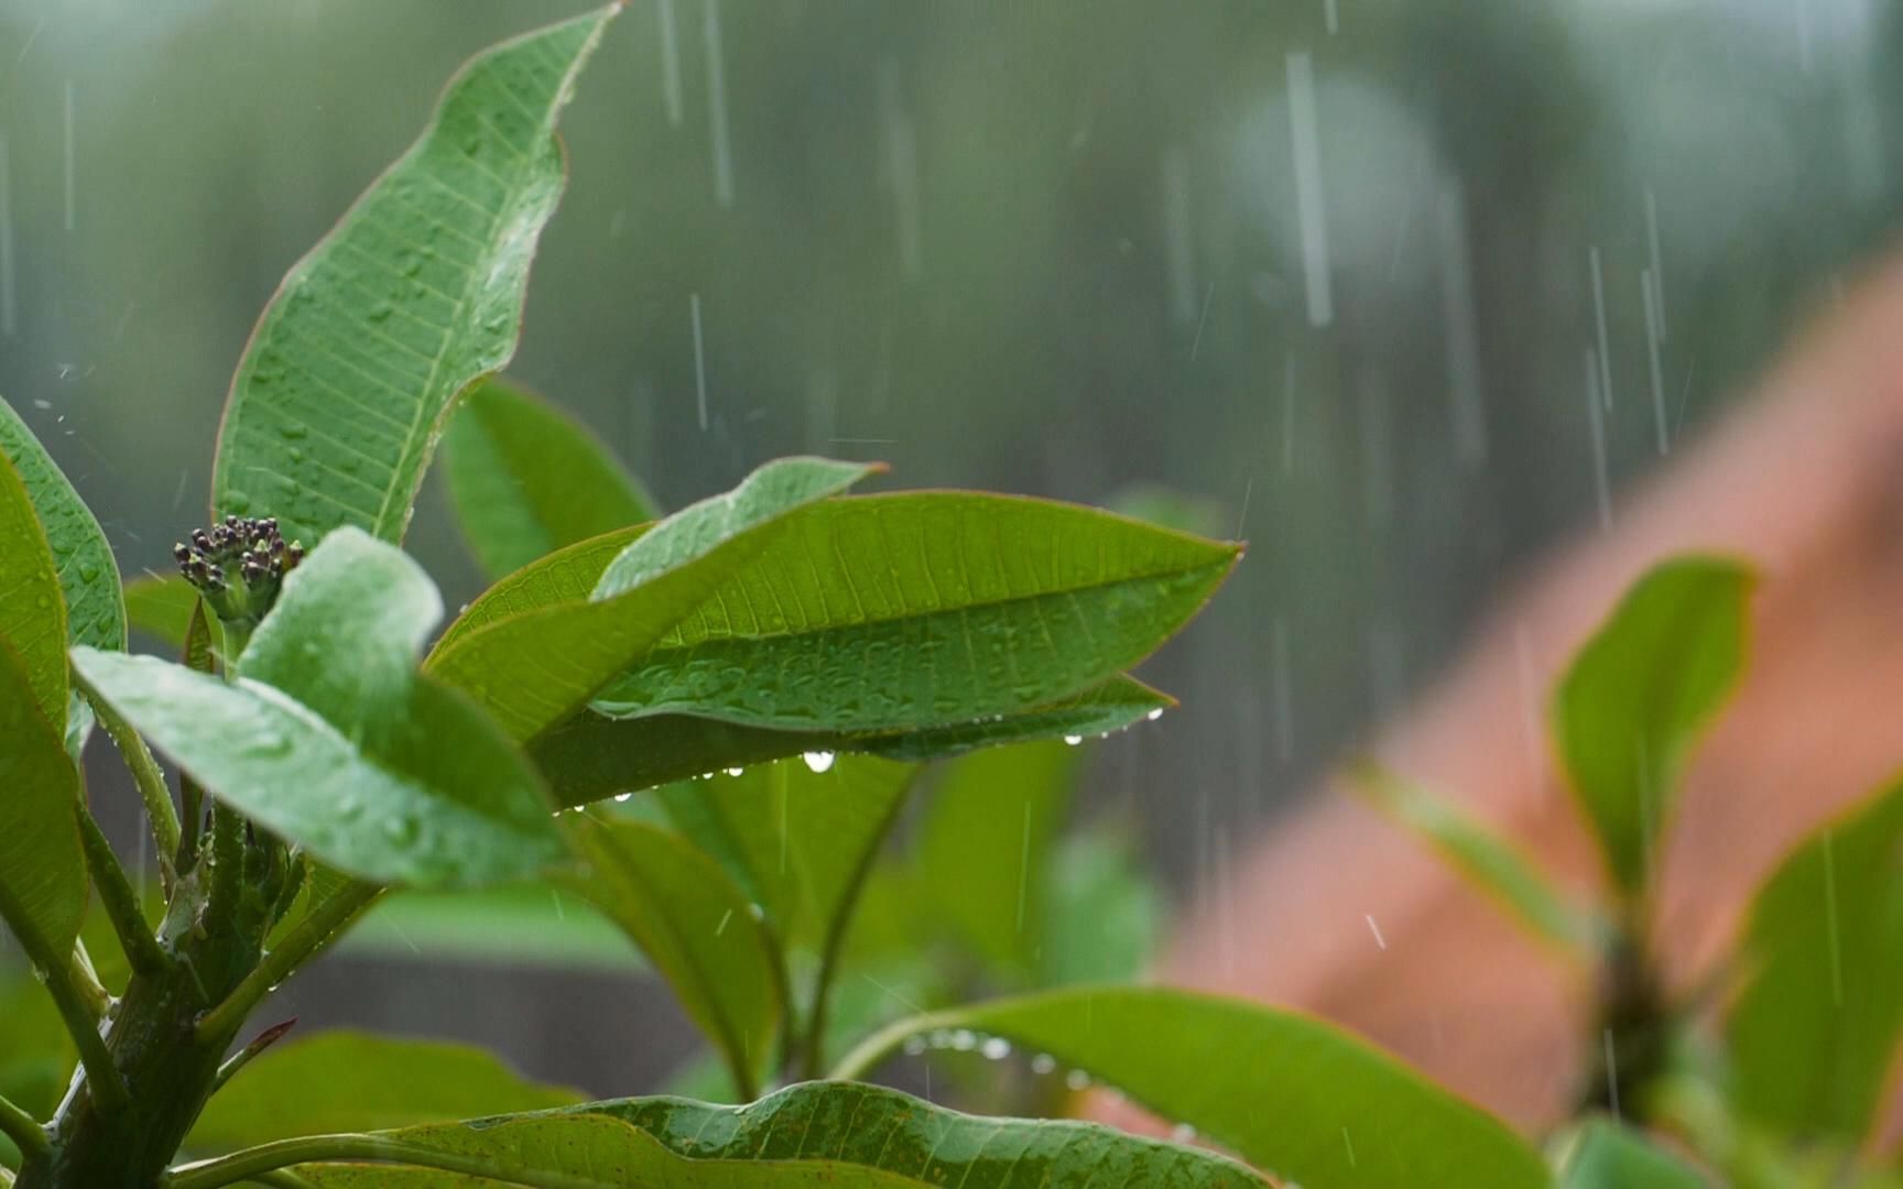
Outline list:
[[[1560,679],[1560,767],[1627,896],[1646,881],[1678,770],[1743,673],[1753,582],[1722,557],[1654,567]]]

